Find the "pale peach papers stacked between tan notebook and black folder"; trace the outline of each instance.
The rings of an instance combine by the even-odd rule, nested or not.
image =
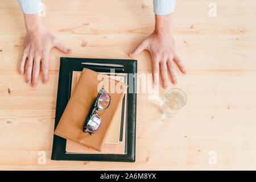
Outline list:
[[[77,82],[79,82],[82,72],[73,71],[71,96],[75,90]],[[121,81],[127,84],[127,73],[101,73],[104,76]],[[112,119],[112,127],[109,134],[106,136],[104,146],[101,151],[94,150],[72,140],[67,140],[66,153],[67,154],[127,154],[127,140],[126,140],[126,93],[122,102],[116,107],[117,111]],[[103,121],[104,122],[104,121]]]

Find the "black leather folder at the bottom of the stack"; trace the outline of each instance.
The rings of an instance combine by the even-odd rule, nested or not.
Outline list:
[[[135,162],[137,60],[61,57],[54,129],[56,129],[70,98],[72,72],[82,71],[83,68],[92,69],[96,72],[110,72],[110,69],[114,68],[115,73],[131,73],[128,74],[127,78],[127,84],[129,85],[126,122],[127,154],[67,154],[65,151],[66,139],[54,135],[51,159]]]

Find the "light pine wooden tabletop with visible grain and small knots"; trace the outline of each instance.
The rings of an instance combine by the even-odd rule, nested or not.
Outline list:
[[[177,87],[188,102],[175,119],[163,118],[166,90],[159,100],[138,94],[135,163],[50,160],[59,58],[129,59],[154,30],[152,1],[43,2],[46,27],[73,52],[52,49],[49,82],[36,88],[18,74],[26,35],[18,3],[0,2],[0,169],[256,169],[254,0],[177,1],[176,49],[188,71],[176,68]],[[216,17],[208,14],[210,3]],[[148,52],[135,59],[139,73],[151,73]],[[46,164],[38,163],[39,151]]]

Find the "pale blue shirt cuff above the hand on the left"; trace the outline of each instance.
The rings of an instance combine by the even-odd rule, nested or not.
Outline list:
[[[18,3],[24,14],[37,14],[43,9],[41,0],[18,0]]]

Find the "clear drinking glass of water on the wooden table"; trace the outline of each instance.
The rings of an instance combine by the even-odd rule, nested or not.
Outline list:
[[[160,110],[167,117],[174,117],[175,114],[186,104],[187,95],[179,88],[172,88],[164,96],[164,102]]]

